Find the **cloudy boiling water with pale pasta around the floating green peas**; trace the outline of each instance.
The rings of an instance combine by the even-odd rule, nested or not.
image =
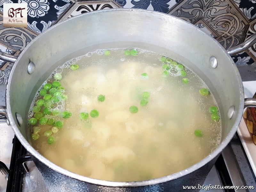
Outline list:
[[[50,110],[57,107],[72,116],[46,116],[64,124],[52,134],[55,142],[51,145],[44,132],[53,125],[39,125],[40,137],[31,141],[39,153],[87,177],[138,181],[186,169],[218,146],[221,122],[213,121],[208,111],[216,102],[211,92],[206,96],[199,93],[207,87],[195,73],[186,67],[181,70],[181,65],[179,68],[170,60],[161,62],[162,55],[153,52],[137,49],[136,56],[125,56],[123,49],[110,51],[108,56],[98,50],[72,59],[46,81],[54,81],[55,73],[62,74],[60,83],[68,99]],[[72,64],[79,68],[71,70]],[[181,76],[181,71],[186,76]],[[188,78],[187,84],[183,78]],[[149,97],[141,106],[143,92]],[[97,100],[100,94],[105,95],[103,102]],[[37,94],[34,101],[42,98]],[[137,106],[138,112],[131,113],[131,106]],[[87,120],[80,120],[81,112],[90,114],[92,109],[99,112],[98,117],[89,115]],[[29,126],[32,130],[38,122]]]

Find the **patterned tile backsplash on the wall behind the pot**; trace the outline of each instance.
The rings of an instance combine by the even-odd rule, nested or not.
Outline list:
[[[4,3],[28,4],[27,28],[3,27]],[[122,7],[154,10],[184,19],[226,49],[256,33],[256,0],[0,0],[0,50],[19,55],[32,39],[62,20]],[[232,58],[236,65],[255,65],[256,44]],[[11,69],[11,63],[0,61],[0,84],[7,83]]]

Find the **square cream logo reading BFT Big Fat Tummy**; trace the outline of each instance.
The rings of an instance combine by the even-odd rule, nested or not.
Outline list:
[[[4,27],[27,27],[26,3],[4,3]]]

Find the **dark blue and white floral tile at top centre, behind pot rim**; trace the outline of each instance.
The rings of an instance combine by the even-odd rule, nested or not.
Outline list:
[[[167,13],[179,0],[131,0],[127,1],[124,8],[147,9]]]

